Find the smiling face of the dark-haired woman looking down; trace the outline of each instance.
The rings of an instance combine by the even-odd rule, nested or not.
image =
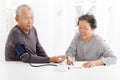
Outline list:
[[[91,39],[93,35],[93,29],[90,24],[86,20],[82,20],[79,22],[79,33],[84,41],[88,41]]]

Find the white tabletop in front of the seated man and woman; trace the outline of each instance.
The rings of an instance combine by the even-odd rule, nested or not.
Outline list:
[[[81,65],[81,62],[75,64]],[[31,67],[23,62],[0,62],[0,80],[120,80],[119,73],[119,64],[59,71],[56,66]]]

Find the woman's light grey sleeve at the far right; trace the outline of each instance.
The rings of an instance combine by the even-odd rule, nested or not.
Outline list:
[[[98,51],[99,51],[99,54],[102,56],[101,60],[104,62],[104,64],[105,65],[115,64],[117,61],[117,58],[113,54],[113,51],[108,46],[108,44],[105,42],[105,40],[101,40],[98,45],[99,45]]]

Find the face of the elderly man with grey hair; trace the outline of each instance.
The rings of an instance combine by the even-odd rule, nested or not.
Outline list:
[[[29,31],[32,28],[34,22],[33,12],[28,9],[23,9],[21,13],[16,16],[16,21],[22,30]]]

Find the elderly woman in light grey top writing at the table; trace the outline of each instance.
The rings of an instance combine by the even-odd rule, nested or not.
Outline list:
[[[100,36],[94,33],[97,28],[94,15],[85,14],[78,19],[78,31],[66,51],[67,64],[76,61],[87,61],[83,67],[89,68],[100,65],[111,65],[116,63],[116,57],[112,50]]]

